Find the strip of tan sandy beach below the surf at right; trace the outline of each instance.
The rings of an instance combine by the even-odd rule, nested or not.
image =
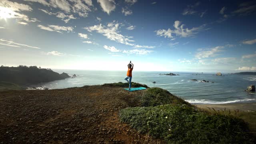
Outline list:
[[[198,108],[209,110],[209,108],[214,108],[215,110],[239,110],[239,111],[256,111],[256,102],[248,103],[229,103],[229,104],[192,104]]]

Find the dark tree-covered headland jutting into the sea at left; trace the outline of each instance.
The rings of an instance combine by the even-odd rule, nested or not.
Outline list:
[[[18,85],[38,84],[70,78],[67,73],[59,74],[51,69],[38,68],[37,66],[0,67],[0,81]]]

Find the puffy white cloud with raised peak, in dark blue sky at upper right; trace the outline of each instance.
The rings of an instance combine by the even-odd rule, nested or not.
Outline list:
[[[195,27],[195,28],[184,28],[185,24],[181,24],[180,21],[176,20],[174,22],[174,30],[171,30],[170,28],[168,28],[168,30],[156,30],[154,32],[156,32],[157,36],[164,36],[165,38],[173,38],[174,36],[172,34],[175,34],[176,36],[180,36],[180,37],[189,37],[189,36],[194,36],[195,34],[197,34],[200,30],[203,30],[203,28],[205,27],[205,24],[199,27]]]

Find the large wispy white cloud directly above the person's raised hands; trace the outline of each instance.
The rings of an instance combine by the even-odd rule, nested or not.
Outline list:
[[[136,44],[132,44],[131,42],[134,42],[134,40],[130,40],[132,38],[131,36],[123,36],[122,34],[119,34],[119,26],[122,25],[120,23],[117,23],[115,21],[110,22],[107,24],[107,26],[102,26],[102,24],[84,27],[84,29],[88,30],[89,32],[96,31],[103,36],[106,36],[106,38],[113,40],[115,42],[126,44],[129,46],[140,46]],[[141,48],[147,48],[151,46],[140,46]]]

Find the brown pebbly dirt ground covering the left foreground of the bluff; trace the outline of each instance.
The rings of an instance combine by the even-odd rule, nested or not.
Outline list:
[[[0,92],[0,144],[162,144],[118,119],[143,92],[108,86]]]

